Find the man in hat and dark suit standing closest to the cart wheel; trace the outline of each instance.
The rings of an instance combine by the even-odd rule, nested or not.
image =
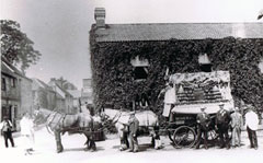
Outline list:
[[[209,129],[210,124],[210,116],[205,112],[206,107],[201,107],[201,113],[197,114],[196,121],[197,121],[197,143],[196,149],[199,149],[202,135],[204,135],[204,145],[205,149],[207,147],[207,132]]]

